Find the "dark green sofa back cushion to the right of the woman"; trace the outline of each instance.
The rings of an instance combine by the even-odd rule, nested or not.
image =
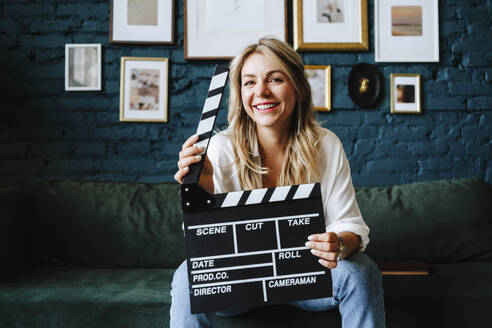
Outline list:
[[[492,260],[492,188],[479,179],[358,188],[377,260]]]

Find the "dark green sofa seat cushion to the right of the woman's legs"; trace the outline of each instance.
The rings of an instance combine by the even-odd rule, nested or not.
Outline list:
[[[431,265],[428,276],[383,276],[387,327],[488,327],[492,262]]]

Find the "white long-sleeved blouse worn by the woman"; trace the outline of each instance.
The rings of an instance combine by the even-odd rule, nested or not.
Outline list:
[[[254,156],[259,157],[258,141],[255,139],[252,142]],[[342,143],[330,130],[326,130],[326,135],[320,142],[318,169],[321,176],[326,231],[355,233],[361,238],[360,250],[363,251],[369,243],[369,227],[362,219],[357,205],[350,165]],[[232,139],[227,130],[210,139],[207,156],[214,170],[214,193],[242,190],[234,164]]]

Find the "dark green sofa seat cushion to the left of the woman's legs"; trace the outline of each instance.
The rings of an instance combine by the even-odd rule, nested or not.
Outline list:
[[[34,267],[0,281],[0,326],[167,327],[173,272]]]

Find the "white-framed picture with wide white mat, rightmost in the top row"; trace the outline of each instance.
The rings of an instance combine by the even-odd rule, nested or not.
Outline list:
[[[375,0],[376,62],[439,62],[437,0]]]

